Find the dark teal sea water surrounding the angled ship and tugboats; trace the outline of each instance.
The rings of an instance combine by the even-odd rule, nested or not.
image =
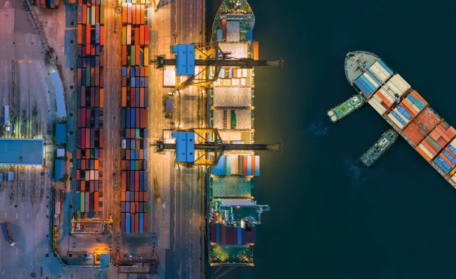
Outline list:
[[[286,63],[255,69],[255,141],[284,152],[260,153],[254,196],[271,211],[256,266],[222,278],[456,277],[456,190],[403,138],[365,168],[359,155],[389,128],[370,106],[337,124],[325,114],[355,93],[345,55],[365,50],[456,126],[456,2],[249,3],[260,59]]]

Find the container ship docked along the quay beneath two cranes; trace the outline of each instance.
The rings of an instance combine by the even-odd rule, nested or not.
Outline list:
[[[254,24],[247,1],[225,0],[215,16],[211,41],[232,58],[258,60]],[[223,67],[209,88],[210,126],[218,129],[224,142],[254,143],[254,77],[254,68]],[[211,168],[207,218],[210,265],[254,265],[256,226],[261,213],[269,210],[253,198],[257,175],[259,156],[252,151],[225,152]]]

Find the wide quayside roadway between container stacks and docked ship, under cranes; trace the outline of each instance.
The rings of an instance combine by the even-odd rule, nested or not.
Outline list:
[[[152,30],[152,53],[149,57],[163,54],[173,57],[170,53],[172,45],[203,42],[203,9],[202,0],[162,2],[159,10],[153,14],[153,21],[149,22]],[[163,87],[163,71],[150,67],[150,76],[149,87],[153,98],[149,119],[153,119],[153,138],[166,137],[163,130],[199,127],[203,119],[198,117],[201,91],[191,87],[174,96],[173,118],[165,119],[162,98],[173,88]],[[201,205],[204,179],[198,180],[201,175],[198,170],[202,169],[174,167],[172,152],[154,154],[152,161],[152,173],[158,178],[162,200],[155,206],[157,254],[161,265],[164,265],[164,259],[167,261],[166,278],[200,278],[204,261],[200,230],[203,224]]]

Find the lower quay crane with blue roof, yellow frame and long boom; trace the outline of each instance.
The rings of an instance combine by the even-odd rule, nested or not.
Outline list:
[[[193,128],[173,133],[176,143],[166,143],[164,139],[156,140],[154,152],[165,153],[167,150],[176,151],[176,162],[186,167],[215,166],[225,151],[277,151],[282,152],[282,143],[276,144],[233,144],[226,143],[220,137],[218,129]],[[213,138],[214,140],[208,140]],[[200,139],[197,143],[197,139]],[[195,150],[203,151],[195,160]],[[212,153],[212,155],[211,155]]]

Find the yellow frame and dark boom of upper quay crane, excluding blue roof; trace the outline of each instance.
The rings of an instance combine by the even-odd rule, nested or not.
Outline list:
[[[231,53],[223,52],[217,42],[210,44],[199,43],[193,44],[192,46],[195,46],[195,53],[193,54],[194,58],[197,55],[203,57],[202,59],[195,59],[194,66],[201,66],[202,69],[198,73],[195,73],[195,69],[193,69],[193,73],[188,74],[188,78],[184,82],[176,86],[177,90],[183,90],[191,85],[208,86],[209,84],[217,80],[222,67],[273,67],[279,69],[283,67],[283,59],[281,58],[277,60],[267,61],[231,57]],[[177,51],[174,51],[174,48],[173,52],[177,53],[176,58],[166,59],[164,55],[159,55],[156,57],[155,61],[150,61],[150,63],[154,64],[157,68],[161,69],[163,69],[165,66],[176,66],[178,61],[180,60],[179,56],[182,54]],[[213,74],[211,74],[208,71],[210,67],[214,67]]]

